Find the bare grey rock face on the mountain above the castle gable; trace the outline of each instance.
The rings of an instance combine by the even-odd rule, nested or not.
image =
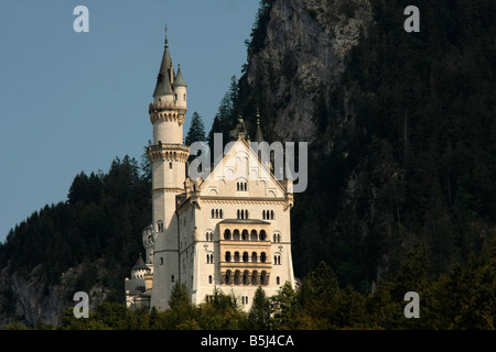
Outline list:
[[[368,0],[276,0],[262,48],[250,58],[247,80],[266,87],[276,116],[271,130],[284,141],[316,139],[316,103],[328,97],[344,58],[373,20]]]

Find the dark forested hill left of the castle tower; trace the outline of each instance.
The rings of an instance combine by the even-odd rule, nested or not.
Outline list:
[[[42,265],[46,285],[82,264],[73,292],[105,283],[112,299],[122,301],[123,278],[141,251],[139,234],[150,222],[149,199],[150,180],[129,156],[116,158],[107,174],[80,173],[67,201],[45,206],[10,231],[0,244],[0,263],[22,275]],[[105,271],[95,265],[101,258]]]

